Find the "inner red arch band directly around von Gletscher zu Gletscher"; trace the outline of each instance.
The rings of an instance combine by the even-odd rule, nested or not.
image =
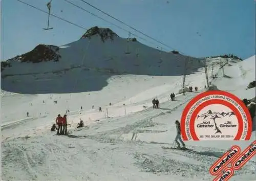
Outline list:
[[[194,110],[193,114],[191,115],[190,122],[189,122],[190,134],[191,134],[191,137],[193,138],[193,140],[199,141],[199,139],[196,135],[196,132],[195,132],[195,121],[196,121],[196,117],[198,115],[198,112],[200,110],[202,110],[202,108],[204,108],[208,105],[211,105],[211,104],[225,105],[234,112],[234,114],[237,116],[237,119],[238,119],[238,133],[237,133],[236,137],[234,138],[234,140],[239,140],[241,138],[241,135],[243,134],[243,128],[244,128],[243,119],[242,119],[241,114],[239,113],[238,109],[234,105],[232,105],[231,103],[229,103],[227,101],[224,101],[224,100],[218,100],[218,99],[205,101],[204,103],[200,104]]]

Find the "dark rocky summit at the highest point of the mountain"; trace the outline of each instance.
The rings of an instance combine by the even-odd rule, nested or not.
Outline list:
[[[111,29],[99,28],[96,26],[96,27],[92,27],[89,30],[87,30],[87,32],[84,33],[81,38],[91,38],[94,35],[96,35],[96,36],[99,35],[102,41],[104,41],[106,39],[113,40],[114,36],[118,37],[118,35],[115,32],[113,32]]]

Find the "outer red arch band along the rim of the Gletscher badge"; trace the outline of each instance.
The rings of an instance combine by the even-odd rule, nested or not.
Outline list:
[[[186,105],[186,107],[184,108],[184,110],[182,112],[181,122],[180,122],[182,139],[184,141],[188,141],[188,138],[187,138],[187,135],[186,135],[186,130],[185,130],[185,121],[186,121],[185,119],[186,119],[186,115],[187,115],[188,111],[198,100],[200,100],[203,97],[211,96],[211,95],[222,95],[222,96],[229,97],[229,98],[233,99],[234,101],[236,101],[241,106],[241,108],[244,110],[244,112],[246,114],[247,121],[248,121],[247,135],[245,137],[245,140],[249,140],[250,137],[251,137],[251,131],[252,131],[252,120],[251,120],[249,110],[247,109],[245,104],[237,96],[234,96],[233,94],[225,92],[223,90],[209,90],[207,92],[204,92],[204,93],[201,93],[201,94],[197,95],[195,98],[193,98],[192,100],[190,100],[188,102],[188,104]],[[217,100],[219,100],[219,99],[217,99]],[[189,128],[189,129],[191,129],[191,128]]]

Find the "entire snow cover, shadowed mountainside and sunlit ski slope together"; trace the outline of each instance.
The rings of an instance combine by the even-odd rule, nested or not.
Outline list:
[[[8,61],[1,90],[2,180],[212,180],[211,164],[233,144],[248,146],[255,131],[247,142],[161,148],[173,146],[174,121],[205,91],[203,63],[189,57],[185,85],[199,91],[177,94],[186,58],[93,29],[65,46],[39,46]],[[255,80],[255,56],[228,60],[223,76],[219,61],[225,59],[207,59],[208,74],[217,75],[212,84],[241,99],[254,97],[255,87],[246,86]],[[153,98],[159,109],[152,108]],[[66,110],[71,133],[58,136],[50,128]],[[86,127],[77,128],[80,119]],[[255,180],[255,163],[230,180]]]

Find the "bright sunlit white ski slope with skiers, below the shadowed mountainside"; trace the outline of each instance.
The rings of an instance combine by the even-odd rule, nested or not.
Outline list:
[[[226,69],[232,72],[232,68],[239,65],[247,70],[244,62],[231,64],[224,67],[225,72]],[[210,67],[208,69],[210,72]],[[219,66],[216,65],[214,71],[218,73]],[[242,80],[255,76],[246,75]],[[237,96],[255,96],[255,92],[245,90],[246,83],[242,80],[234,87],[225,77],[215,80],[210,79],[218,83],[218,88],[225,85],[224,88]],[[205,82],[204,69],[186,78],[186,86],[198,86],[199,92],[204,91]],[[181,86],[182,76],[118,75],[111,76],[102,90],[90,93],[4,92],[2,179],[212,180],[214,177],[208,173],[211,164],[233,144],[244,149],[256,139],[255,131],[251,141],[186,142],[193,151],[162,149],[161,146],[172,146],[176,136],[174,121],[180,119],[186,103],[199,94],[176,95],[176,101],[169,101],[169,94],[177,93]],[[152,108],[153,97],[159,99],[160,109]],[[53,104],[53,100],[58,103]],[[110,119],[106,118],[106,108]],[[56,115],[64,114],[66,109],[70,109],[69,130],[73,132],[68,137],[57,136],[50,127]],[[27,110],[29,118],[26,118]],[[88,127],[76,128],[79,118],[85,120]],[[131,141],[133,133],[137,138]],[[255,163],[253,158],[230,180],[254,180]]]

